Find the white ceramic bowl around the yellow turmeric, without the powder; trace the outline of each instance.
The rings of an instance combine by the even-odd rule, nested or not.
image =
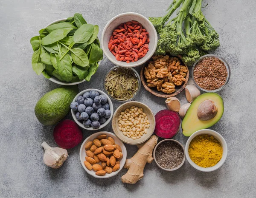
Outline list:
[[[215,137],[220,143],[221,143],[221,146],[222,146],[222,149],[223,149],[223,153],[222,153],[222,158],[221,160],[213,167],[207,167],[207,168],[204,168],[204,167],[200,167],[198,166],[197,164],[195,164],[189,157],[189,144],[190,142],[192,141],[192,139],[194,139],[196,136],[198,135],[202,135],[202,134],[208,134],[210,136],[213,136]],[[214,170],[217,170],[219,167],[221,167],[226,158],[227,158],[227,143],[225,141],[225,139],[221,136],[221,134],[219,134],[218,132],[214,131],[214,130],[210,130],[210,129],[202,129],[202,130],[198,130],[196,131],[195,133],[193,133],[188,141],[186,142],[186,147],[185,147],[185,153],[186,153],[186,158],[187,160],[189,161],[189,164],[194,167],[195,169],[197,170],[200,170],[200,171],[203,171],[203,172],[211,172],[211,171],[214,171]]]

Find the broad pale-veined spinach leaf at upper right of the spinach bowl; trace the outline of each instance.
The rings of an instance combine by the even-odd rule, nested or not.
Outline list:
[[[90,37],[93,35],[93,25],[92,24],[84,24],[78,28],[74,34],[74,42],[75,43],[84,43],[87,42]]]

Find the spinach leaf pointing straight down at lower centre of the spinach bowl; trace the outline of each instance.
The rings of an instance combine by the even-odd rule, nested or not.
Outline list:
[[[66,54],[61,60],[61,55],[57,55],[57,67],[61,78],[66,81],[70,82],[72,80],[72,65],[71,65],[71,58],[70,55]]]

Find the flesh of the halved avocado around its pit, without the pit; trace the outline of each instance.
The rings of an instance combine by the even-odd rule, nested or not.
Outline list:
[[[198,119],[197,109],[201,102],[204,102],[205,100],[214,101],[215,105],[218,107],[218,112],[214,118],[203,121]],[[217,123],[221,119],[223,112],[224,104],[223,99],[220,95],[218,95],[217,93],[203,93],[192,102],[186,112],[186,116],[184,117],[181,124],[183,135],[191,136],[198,130],[211,127],[213,124]]]

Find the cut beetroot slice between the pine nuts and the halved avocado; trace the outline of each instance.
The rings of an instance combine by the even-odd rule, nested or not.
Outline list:
[[[154,132],[157,136],[165,139],[175,136],[180,128],[180,116],[171,110],[161,110],[155,115],[156,127]]]

